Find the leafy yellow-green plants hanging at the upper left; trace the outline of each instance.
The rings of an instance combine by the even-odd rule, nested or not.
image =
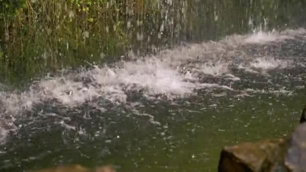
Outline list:
[[[0,1],[0,60],[6,76],[79,65],[103,57],[102,52],[122,54],[128,45],[123,21],[143,6],[142,1]]]

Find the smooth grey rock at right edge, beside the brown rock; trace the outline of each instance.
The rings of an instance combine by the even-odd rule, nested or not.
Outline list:
[[[285,164],[290,171],[306,171],[306,123],[300,124],[294,130],[285,156]]]

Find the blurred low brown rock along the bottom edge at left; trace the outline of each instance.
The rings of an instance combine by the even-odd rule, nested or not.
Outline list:
[[[94,169],[82,165],[60,165],[53,168],[30,170],[29,172],[116,172],[116,170],[111,165]]]

